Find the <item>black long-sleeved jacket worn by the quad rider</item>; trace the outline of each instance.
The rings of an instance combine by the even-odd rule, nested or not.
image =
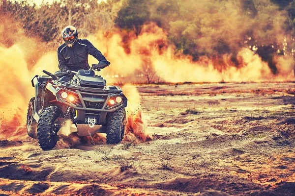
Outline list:
[[[78,39],[72,48],[62,44],[58,49],[59,70],[61,72],[88,70],[90,68],[88,54],[94,56],[98,61],[106,60],[104,55],[88,40]]]

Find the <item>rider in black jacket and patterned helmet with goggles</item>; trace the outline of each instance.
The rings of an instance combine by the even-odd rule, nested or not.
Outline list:
[[[61,34],[64,41],[58,49],[61,72],[89,70],[88,54],[94,56],[98,61],[106,61],[106,57],[88,40],[78,39],[78,31],[74,26],[66,26]]]

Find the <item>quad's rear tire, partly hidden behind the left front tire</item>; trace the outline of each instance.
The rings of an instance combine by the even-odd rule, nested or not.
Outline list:
[[[27,113],[27,132],[29,137],[36,139],[37,138],[37,125],[38,123],[33,118],[34,116],[34,104],[35,98],[29,100],[29,107]]]

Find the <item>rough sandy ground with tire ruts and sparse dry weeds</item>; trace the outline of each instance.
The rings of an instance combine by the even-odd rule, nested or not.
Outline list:
[[[138,86],[151,141],[42,151],[2,140],[0,196],[295,195],[294,87]]]

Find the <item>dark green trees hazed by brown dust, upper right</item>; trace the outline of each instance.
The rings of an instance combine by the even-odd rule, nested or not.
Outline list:
[[[148,0],[143,3],[127,0],[118,13],[116,24],[138,33],[144,24],[155,22],[168,32],[177,51],[191,55],[195,61],[204,55],[220,57],[231,53],[235,63],[240,48],[256,46],[259,48],[257,53],[276,73],[272,62],[274,55],[267,52],[269,46],[275,46],[271,50],[273,53],[279,48],[282,50],[286,33],[295,35],[295,0],[271,2]]]

